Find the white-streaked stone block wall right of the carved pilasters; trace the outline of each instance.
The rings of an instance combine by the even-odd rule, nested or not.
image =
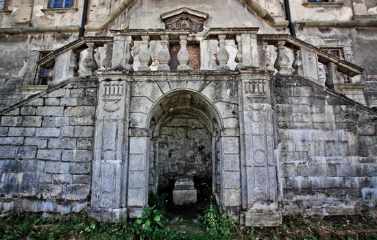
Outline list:
[[[375,205],[377,113],[301,78],[274,81],[284,213]]]

